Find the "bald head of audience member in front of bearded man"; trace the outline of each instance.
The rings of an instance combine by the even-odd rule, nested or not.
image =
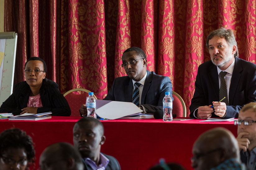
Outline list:
[[[227,159],[239,158],[238,143],[225,128],[214,128],[201,134],[195,141],[191,166],[195,170],[214,168]]]

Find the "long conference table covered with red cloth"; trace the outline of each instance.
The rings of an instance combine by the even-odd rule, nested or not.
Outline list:
[[[0,120],[0,132],[20,128],[29,134],[36,151],[36,169],[44,148],[56,142],[73,144],[72,130],[81,117],[57,117],[40,121]],[[201,122],[201,120],[164,122],[160,119],[103,120],[106,142],[101,151],[119,161],[122,170],[149,169],[160,158],[190,167],[194,141],[206,130],[224,127],[235,136],[233,122]]]

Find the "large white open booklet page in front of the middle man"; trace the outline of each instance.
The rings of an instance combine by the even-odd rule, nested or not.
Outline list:
[[[135,113],[143,112],[132,102],[96,100],[96,113],[105,119],[118,119]]]

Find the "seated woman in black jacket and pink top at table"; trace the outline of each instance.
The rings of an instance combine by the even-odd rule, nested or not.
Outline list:
[[[18,83],[11,96],[0,107],[0,113],[52,112],[52,116],[70,116],[70,107],[57,83],[48,80],[43,59],[31,57],[24,66],[25,80]]]

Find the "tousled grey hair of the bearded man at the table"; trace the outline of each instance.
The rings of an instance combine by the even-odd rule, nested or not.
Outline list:
[[[219,28],[217,30],[212,31],[206,39],[206,47],[209,50],[209,40],[211,40],[213,37],[218,36],[220,38],[225,38],[225,40],[227,41],[228,45],[230,47],[232,47],[233,45],[235,45],[236,47],[236,52],[234,54],[234,57],[239,57],[238,54],[238,48],[237,48],[237,43],[235,41],[235,36],[234,33],[231,29],[226,29],[226,28]]]

